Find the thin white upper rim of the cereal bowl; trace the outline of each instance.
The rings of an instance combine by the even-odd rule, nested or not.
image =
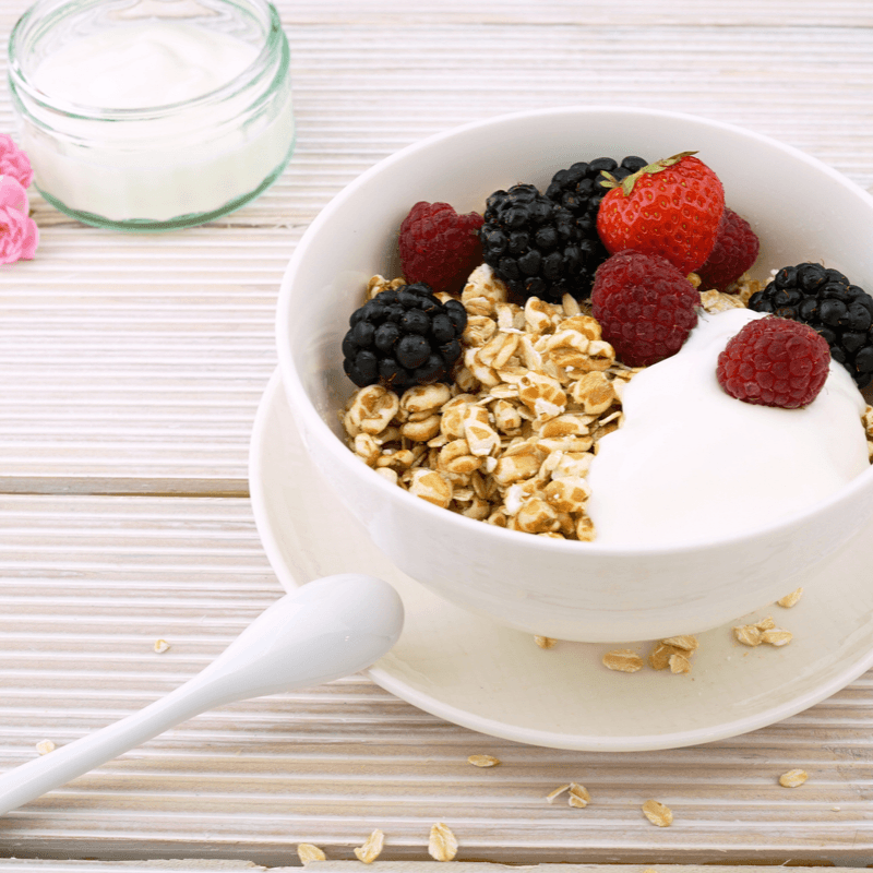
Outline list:
[[[366,485],[370,489],[382,489],[381,492],[378,491],[378,493],[383,494],[385,500],[395,502],[399,501],[398,505],[404,507],[406,511],[422,514],[424,517],[432,519],[434,524],[450,527],[461,525],[462,529],[467,529],[470,534],[473,534],[475,530],[479,530],[479,536],[482,536],[486,539],[492,539],[495,546],[503,543],[505,546],[514,545],[515,547],[518,547],[522,542],[526,542],[529,549],[541,550],[543,555],[562,552],[569,554],[579,554],[583,550],[593,557],[596,555],[598,558],[607,559],[619,559],[631,555],[634,558],[647,555],[693,555],[707,552],[713,549],[729,549],[739,546],[740,543],[751,543],[756,540],[770,539],[774,536],[778,537],[788,528],[791,528],[803,521],[811,521],[816,515],[827,514],[829,511],[836,509],[839,504],[851,501],[858,491],[868,488],[869,482],[873,480],[873,464],[871,464],[869,469],[865,469],[863,473],[856,476],[854,479],[852,479],[850,482],[847,482],[846,486],[829,497],[817,501],[804,510],[782,516],[773,524],[760,527],[752,531],[729,534],[727,536],[707,540],[690,540],[689,542],[684,543],[646,546],[634,543],[629,543],[625,546],[607,546],[598,543],[596,540],[593,542],[579,542],[576,540],[555,539],[552,537],[537,537],[523,531],[498,527],[497,525],[483,524],[481,521],[476,521],[474,518],[467,518],[466,516],[431,504],[426,500],[416,498],[403,489],[397,488],[375,474],[364,464],[361,464],[360,459],[351,451],[349,451],[348,446],[337,438],[337,435],[327,427],[325,421],[319,415],[314,405],[310,400],[309,395],[303,387],[302,381],[299,378],[297,368],[294,364],[294,356],[290,344],[287,342],[287,333],[284,328],[285,325],[290,321],[295,278],[297,272],[300,270],[300,264],[306,258],[313,240],[319,236],[322,228],[327,225],[332,218],[344,207],[346,201],[354,195],[358,189],[366,186],[373,177],[390,170],[395,164],[405,160],[407,157],[416,155],[419,152],[427,151],[434,145],[444,142],[445,140],[464,136],[473,131],[481,130],[482,128],[511,123],[516,120],[530,121],[531,119],[542,119],[555,116],[586,115],[615,117],[632,117],[634,115],[639,115],[645,116],[646,118],[657,118],[668,121],[673,120],[681,121],[683,123],[699,124],[709,129],[722,130],[726,133],[731,133],[734,136],[756,141],[757,143],[769,148],[775,148],[778,152],[790,155],[796,159],[808,164],[818,172],[823,172],[824,175],[830,177],[834,182],[845,188],[850,194],[853,194],[862,200],[870,210],[871,217],[873,218],[873,195],[864,191],[864,189],[862,189],[859,184],[851,181],[838,170],[835,170],[834,168],[824,164],[818,158],[808,155],[805,152],[802,152],[794,146],[781,143],[778,140],[767,136],[766,134],[756,133],[737,124],[707,119],[702,116],[691,115],[687,112],[678,112],[666,109],[647,109],[633,106],[572,105],[492,116],[431,134],[430,136],[414,142],[376,162],[373,166],[364,170],[356,179],[349,182],[342,191],[339,191],[309,225],[306,232],[300,238],[300,241],[298,242],[295,252],[288,262],[288,265],[286,266],[279,286],[279,295],[276,307],[276,347],[279,371],[282,373],[282,382],[286,393],[288,394],[291,410],[298,421],[300,421],[300,423],[303,426],[303,430],[311,430],[315,439],[319,439],[324,444],[328,445],[331,455],[345,467],[349,475],[357,478],[362,470],[366,470],[367,473],[364,476],[369,474],[369,477],[366,479]],[[475,525],[475,527],[470,527],[471,525]],[[507,537],[509,539],[506,539]],[[517,539],[518,537],[524,537],[525,539],[519,541]]]

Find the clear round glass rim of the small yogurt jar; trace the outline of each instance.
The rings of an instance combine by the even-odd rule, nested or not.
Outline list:
[[[44,19],[49,9],[62,13],[67,8],[80,5],[77,0],[37,0],[31,5],[15,22],[9,36],[8,58],[9,58],[9,80],[13,89],[25,94],[29,100],[35,101],[45,109],[62,112],[71,118],[79,118],[92,121],[143,121],[153,118],[167,118],[172,115],[189,111],[194,108],[207,106],[210,104],[222,103],[223,100],[239,94],[249,85],[256,82],[264,70],[271,64],[276,51],[282,49],[285,41],[285,33],[282,29],[282,22],[276,8],[270,0],[218,0],[226,2],[228,7],[250,5],[261,13],[266,13],[265,39],[260,51],[251,63],[232,79],[225,82],[213,91],[207,91],[196,97],[191,97],[176,103],[156,104],[154,106],[143,106],[135,108],[115,108],[92,106],[89,104],[79,104],[67,99],[52,99],[50,94],[37,88],[28,75],[25,73],[21,63],[19,46],[26,32],[27,26]],[[97,5],[99,0],[93,5]]]

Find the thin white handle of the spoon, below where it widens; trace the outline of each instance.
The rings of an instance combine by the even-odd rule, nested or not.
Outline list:
[[[208,709],[213,695],[202,683],[194,685],[196,679],[113,725],[0,776],[0,815]]]

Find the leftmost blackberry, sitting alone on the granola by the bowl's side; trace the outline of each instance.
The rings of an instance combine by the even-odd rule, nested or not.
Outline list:
[[[346,375],[358,387],[382,382],[399,394],[450,379],[467,311],[457,300],[441,303],[429,285],[416,283],[382,291],[356,309],[348,323]]]

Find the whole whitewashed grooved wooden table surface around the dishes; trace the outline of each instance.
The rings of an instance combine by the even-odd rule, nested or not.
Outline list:
[[[4,38],[25,5],[0,0]],[[502,112],[637,105],[775,136],[873,190],[869,0],[277,5],[299,145],[271,190],[163,235],[35,196],[36,258],[0,270],[0,770],[169,692],[282,593],[247,482],[278,284],[379,159]],[[475,752],[503,764],[476,769]],[[809,782],[778,786],[793,767]],[[598,803],[543,802],[567,781]],[[649,797],[673,826],[643,818]],[[873,673],[745,737],[625,754],[476,734],[357,675],[179,726],[0,818],[0,856],[294,865],[301,841],[354,861],[381,828],[381,860],[426,862],[445,822],[459,861],[862,866],[872,801]]]

